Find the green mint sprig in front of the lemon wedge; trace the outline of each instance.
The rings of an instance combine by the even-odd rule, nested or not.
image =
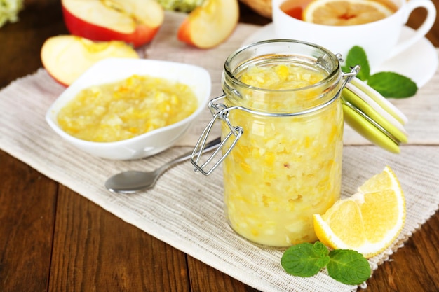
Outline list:
[[[361,253],[350,249],[329,251],[322,242],[305,242],[290,246],[281,258],[285,272],[311,277],[326,267],[327,274],[343,284],[358,285],[370,278],[369,262]]]

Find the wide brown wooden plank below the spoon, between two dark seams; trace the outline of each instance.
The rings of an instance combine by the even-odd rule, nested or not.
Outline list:
[[[189,291],[186,255],[60,186],[49,291]]]

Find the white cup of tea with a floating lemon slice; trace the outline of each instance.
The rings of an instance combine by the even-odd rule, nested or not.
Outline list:
[[[362,8],[358,6],[365,5],[364,13],[352,12],[349,5],[354,4],[359,11]],[[425,8],[426,18],[408,38],[400,40],[416,8]],[[278,39],[309,41],[343,57],[353,46],[360,46],[372,70],[417,43],[433,27],[436,17],[430,0],[272,0],[272,9]]]

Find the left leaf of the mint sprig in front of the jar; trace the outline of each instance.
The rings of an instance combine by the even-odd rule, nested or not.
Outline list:
[[[327,252],[322,251],[321,246],[316,246],[315,251],[314,245],[305,242],[288,248],[281,258],[281,265],[285,272],[299,277],[311,277],[325,267],[330,257],[327,256]],[[323,245],[323,247],[326,249],[326,246]]]

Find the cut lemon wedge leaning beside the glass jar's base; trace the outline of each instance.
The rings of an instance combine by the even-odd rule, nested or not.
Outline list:
[[[313,215],[320,242],[332,249],[353,249],[366,258],[389,247],[405,223],[405,198],[390,167],[372,176],[358,192],[339,200],[325,214]]]

